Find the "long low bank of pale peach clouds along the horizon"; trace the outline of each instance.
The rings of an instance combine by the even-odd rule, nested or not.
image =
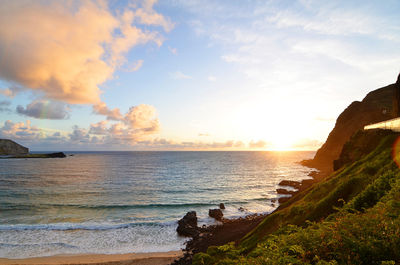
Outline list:
[[[77,125],[70,133],[61,131],[45,131],[26,123],[14,123],[7,120],[0,126],[0,138],[18,140],[28,147],[39,150],[56,148],[63,150],[242,150],[246,145],[242,141],[173,141],[171,139],[153,137],[157,130],[157,118],[151,106],[136,106],[130,110],[135,114],[133,123],[122,121],[100,121],[89,128]],[[139,121],[140,120],[140,121]],[[148,136],[152,136],[148,138]],[[252,142],[252,148],[265,146],[265,142]],[[48,149],[51,150],[51,149]]]

